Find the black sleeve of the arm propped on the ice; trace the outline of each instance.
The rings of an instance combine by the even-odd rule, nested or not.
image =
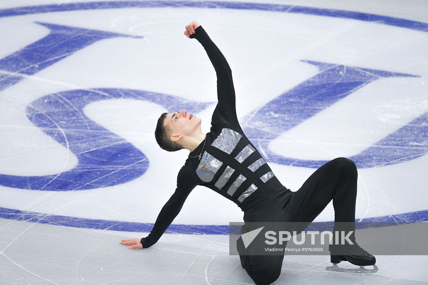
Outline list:
[[[177,175],[177,188],[175,189],[175,192],[163,206],[162,210],[160,210],[150,234],[146,238],[142,238],[140,241],[140,243],[143,244],[143,248],[148,248],[159,240],[178,215],[184,201],[186,201],[187,196],[189,196],[190,192],[196,187],[196,185],[196,181],[191,177],[188,170],[184,168],[184,166],[181,167]]]

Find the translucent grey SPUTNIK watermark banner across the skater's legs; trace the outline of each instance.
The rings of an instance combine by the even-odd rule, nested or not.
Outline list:
[[[357,243],[373,255],[428,255],[425,236],[428,223],[231,222],[229,254],[345,255]]]

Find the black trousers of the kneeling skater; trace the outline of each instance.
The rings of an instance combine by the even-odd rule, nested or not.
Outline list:
[[[355,223],[357,175],[352,160],[345,157],[331,160],[318,168],[298,191],[284,187],[254,201],[244,211],[244,222],[312,222],[333,199],[334,221]],[[242,243],[242,239],[237,242]],[[284,255],[240,255],[240,258],[253,281],[265,285],[278,279]]]

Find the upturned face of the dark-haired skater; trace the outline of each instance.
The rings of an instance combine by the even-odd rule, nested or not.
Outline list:
[[[201,118],[187,113],[187,110],[182,110],[167,114],[163,125],[172,130],[171,140],[176,142],[182,137],[190,137],[197,128],[200,128],[201,122]]]

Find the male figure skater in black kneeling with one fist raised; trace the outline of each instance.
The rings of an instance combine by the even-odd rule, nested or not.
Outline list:
[[[353,229],[348,230],[355,231],[355,163],[339,157],[317,169],[298,191],[282,186],[239,125],[232,71],[225,57],[196,21],[186,26],[184,35],[202,44],[217,73],[218,104],[211,129],[203,134],[201,119],[187,110],[160,116],[155,130],[159,146],[166,151],[186,148],[190,154],[178,172],[177,188],[160,211],[150,234],[120,243],[130,245],[129,249],[155,244],[196,185],[211,188],[235,202],[244,211],[246,223],[312,222],[333,199],[335,222],[351,222]],[[337,264],[343,260],[356,265],[374,265],[375,257],[355,243],[354,234],[351,240],[354,245],[349,246],[346,255],[334,255],[335,248],[330,248],[331,262]],[[259,285],[270,284],[279,277],[284,255],[240,255],[240,258],[242,267]],[[365,272],[365,269],[360,267],[360,271],[354,272]]]

